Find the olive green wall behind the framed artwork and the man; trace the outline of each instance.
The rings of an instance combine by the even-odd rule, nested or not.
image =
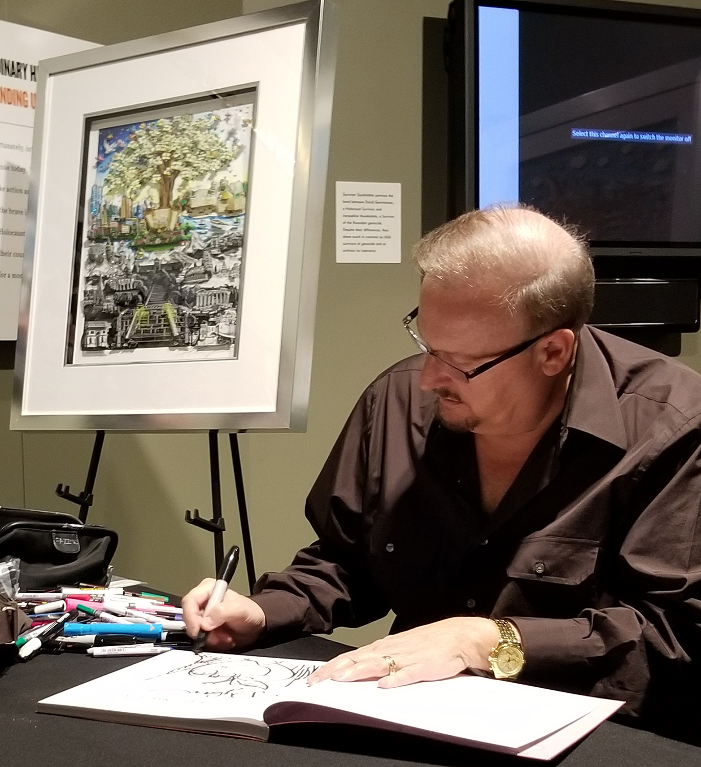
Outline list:
[[[281,2],[0,0],[0,18],[107,43],[275,5]],[[347,413],[370,380],[413,352],[400,318],[416,304],[418,288],[409,255],[420,236],[422,18],[445,16],[448,0],[336,0],[336,5],[341,28],[308,430],[240,437],[258,573],[283,568],[311,541],[304,496]],[[337,179],[402,183],[402,264],[335,263]],[[701,370],[696,336],[684,338],[681,359]],[[91,436],[8,433],[3,425],[11,378],[0,371],[0,503],[70,509],[54,489],[58,482],[82,487]],[[223,437],[221,446],[231,544],[240,534]],[[176,592],[211,574],[209,536],[183,522],[185,509],[211,510],[205,435],[108,434],[95,495],[91,520],[119,532],[115,564],[121,574]],[[235,587],[246,593],[244,568]],[[334,637],[362,644],[387,625],[337,630]]]

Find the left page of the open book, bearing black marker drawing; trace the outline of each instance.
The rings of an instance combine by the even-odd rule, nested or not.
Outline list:
[[[321,660],[170,650],[41,700],[40,709],[262,723],[266,706],[295,688],[305,689],[307,677],[322,665]]]

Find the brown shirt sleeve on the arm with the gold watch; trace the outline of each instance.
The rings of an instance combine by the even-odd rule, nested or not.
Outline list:
[[[651,683],[698,675],[701,663],[701,450],[687,424],[637,477],[604,578],[610,606],[577,617],[509,616],[522,637],[524,681],[578,677],[594,695],[640,711]],[[673,688],[673,684],[670,684]]]

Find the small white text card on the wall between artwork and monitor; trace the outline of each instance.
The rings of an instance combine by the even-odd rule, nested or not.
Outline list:
[[[402,185],[336,182],[336,261],[399,264],[402,260]]]

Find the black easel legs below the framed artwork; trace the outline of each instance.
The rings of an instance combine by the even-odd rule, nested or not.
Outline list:
[[[81,522],[87,520],[87,512],[93,505],[93,488],[97,477],[97,467],[100,465],[100,455],[104,443],[104,431],[95,433],[95,442],[93,445],[93,454],[90,459],[90,466],[87,469],[85,487],[78,495],[71,493],[70,486],[59,485],[56,488],[56,495],[71,503],[81,507],[78,517]],[[234,469],[234,480],[236,485],[236,501],[239,505],[239,519],[241,520],[241,535],[243,539],[243,551],[246,561],[246,572],[248,574],[248,588],[253,589],[255,584],[255,566],[253,564],[253,545],[251,541],[251,528],[248,525],[248,508],[246,506],[245,489],[243,486],[243,472],[241,468],[241,454],[239,453],[239,435],[229,434],[229,445],[231,446],[232,465]],[[212,482],[212,518],[203,519],[199,515],[199,509],[189,509],[185,512],[185,521],[190,525],[196,525],[202,530],[211,532],[214,535],[214,560],[216,569],[224,558],[224,531],[226,525],[222,516],[222,484],[219,476],[219,432],[216,429],[209,431],[209,475]]]

